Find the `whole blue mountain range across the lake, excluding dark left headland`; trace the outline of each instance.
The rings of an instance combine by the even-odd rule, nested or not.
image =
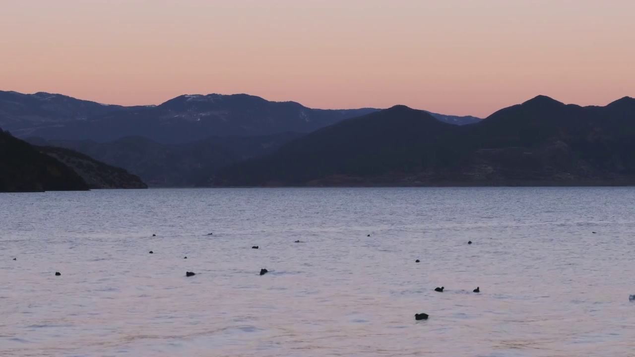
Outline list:
[[[403,105],[309,109],[250,95],[121,107],[0,92],[0,124],[77,172],[88,158],[81,154],[124,168],[132,174],[127,185],[135,175],[177,187],[635,183],[629,97],[581,107],[538,96],[478,119]]]

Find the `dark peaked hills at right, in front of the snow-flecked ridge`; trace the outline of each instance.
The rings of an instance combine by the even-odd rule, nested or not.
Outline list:
[[[200,185],[633,185],[635,99],[538,96],[472,125],[398,105],[236,163]]]

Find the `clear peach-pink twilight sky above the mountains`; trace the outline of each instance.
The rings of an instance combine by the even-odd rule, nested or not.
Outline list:
[[[634,0],[0,0],[0,90],[485,117],[635,97]]]

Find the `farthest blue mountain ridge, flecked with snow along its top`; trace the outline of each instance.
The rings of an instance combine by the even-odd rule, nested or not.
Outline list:
[[[0,91],[0,126],[17,137],[47,140],[109,142],[138,136],[161,144],[186,144],[208,137],[309,133],[379,110],[311,109],[246,94],[181,95],[156,106],[123,107],[43,92]],[[479,121],[432,115],[458,125]]]

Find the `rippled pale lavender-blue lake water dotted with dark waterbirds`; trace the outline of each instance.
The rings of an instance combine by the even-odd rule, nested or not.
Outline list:
[[[634,202],[634,188],[0,194],[0,356],[633,356]]]

